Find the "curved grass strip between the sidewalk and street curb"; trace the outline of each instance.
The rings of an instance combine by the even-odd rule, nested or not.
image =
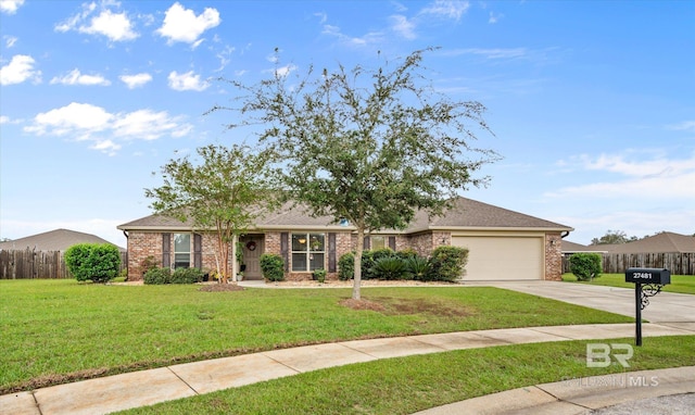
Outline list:
[[[629,368],[586,367],[586,343],[566,341],[460,350],[361,363],[140,407],[122,414],[412,414],[503,390],[623,370],[695,365],[695,336],[648,338]],[[611,342],[632,344],[633,339]],[[643,380],[648,387],[658,379]],[[635,388],[636,389],[636,388]],[[639,392],[637,392],[639,393]]]

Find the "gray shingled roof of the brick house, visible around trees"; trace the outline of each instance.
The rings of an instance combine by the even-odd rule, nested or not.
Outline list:
[[[352,229],[351,226],[331,224],[329,216],[312,217],[302,206],[286,203],[281,208],[261,216],[256,221],[258,229]],[[162,215],[150,215],[118,226],[123,230],[185,230],[191,225]],[[522,213],[497,208],[471,199],[457,198],[454,208],[442,216],[429,217],[420,211],[413,223],[404,230],[406,234],[440,229],[538,229],[571,231],[573,228],[549,221],[525,215]]]

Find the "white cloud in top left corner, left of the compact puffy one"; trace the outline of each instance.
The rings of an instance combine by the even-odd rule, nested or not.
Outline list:
[[[134,30],[132,22],[130,22],[127,13],[114,13],[109,9],[111,5],[118,7],[119,3],[102,1],[99,4],[100,13],[92,16],[98,9],[97,3],[83,3],[81,12],[58,24],[55,30],[77,30],[88,35],[102,35],[111,41],[132,40],[140,36]],[[91,18],[89,18],[90,16]]]

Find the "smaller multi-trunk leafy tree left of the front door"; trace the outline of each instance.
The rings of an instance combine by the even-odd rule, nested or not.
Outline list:
[[[194,229],[214,230],[215,260],[224,282],[237,281],[236,261],[229,269],[229,250],[236,257],[237,239],[267,205],[265,168],[268,159],[247,146],[210,144],[197,150],[200,163],[189,156],[172,159],[161,167],[164,184],[146,189],[155,213],[191,221]]]

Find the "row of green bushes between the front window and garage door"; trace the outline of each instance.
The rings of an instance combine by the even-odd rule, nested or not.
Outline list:
[[[338,260],[338,277],[341,280],[354,278],[354,259],[352,252]],[[468,250],[458,247],[438,247],[430,257],[419,256],[414,250],[367,250],[362,254],[362,278],[453,282],[460,278],[467,262]]]

